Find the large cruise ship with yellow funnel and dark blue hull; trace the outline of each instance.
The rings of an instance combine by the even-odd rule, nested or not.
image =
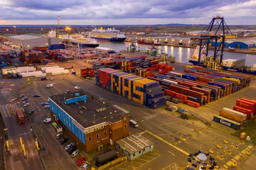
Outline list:
[[[104,40],[104,41],[111,41],[111,42],[124,42],[126,37],[124,33],[121,33],[119,30],[115,30],[115,28],[108,28],[104,30],[104,27],[100,29],[94,29],[89,34],[90,38],[95,38],[96,40]]]

